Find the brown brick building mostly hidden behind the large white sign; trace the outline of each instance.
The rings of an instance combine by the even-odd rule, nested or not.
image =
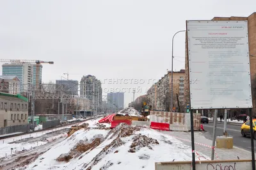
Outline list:
[[[248,20],[248,40],[249,40],[249,52],[250,52],[250,70],[251,79],[256,77],[256,12],[252,13],[249,17],[214,17],[212,20]],[[186,38],[186,47],[187,47]],[[189,86],[188,86],[188,51],[186,48],[186,61],[185,61],[185,101],[189,102]],[[253,98],[253,107],[255,107],[255,99]]]

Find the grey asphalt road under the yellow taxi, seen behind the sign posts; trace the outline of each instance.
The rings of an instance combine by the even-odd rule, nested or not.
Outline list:
[[[209,124],[203,123],[204,130],[207,131],[204,133],[207,139],[212,140],[213,135],[213,123],[209,122]],[[216,135],[223,135],[223,123],[217,123],[217,132]],[[251,151],[251,139],[249,137],[242,137],[241,135],[241,126],[237,125],[227,125],[228,135],[233,136],[233,144],[239,148],[243,148],[244,150]],[[254,140],[254,148],[256,146],[256,140]]]

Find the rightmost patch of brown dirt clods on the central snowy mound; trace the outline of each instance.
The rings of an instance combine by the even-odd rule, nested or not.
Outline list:
[[[153,139],[151,137],[147,137],[146,135],[136,135],[133,138],[133,142],[131,144],[131,149],[129,152],[134,153],[138,150],[140,150],[143,147],[148,147],[148,149],[152,150],[152,147],[150,144],[159,144],[156,139]]]

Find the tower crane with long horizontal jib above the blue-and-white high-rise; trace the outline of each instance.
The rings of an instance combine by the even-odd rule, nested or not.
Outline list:
[[[42,61],[42,60],[33,60],[33,59],[0,59],[2,63],[12,63],[12,64],[22,64],[22,63],[31,63],[36,64],[36,88],[39,86],[39,71],[40,64],[50,64],[53,65],[53,61]]]

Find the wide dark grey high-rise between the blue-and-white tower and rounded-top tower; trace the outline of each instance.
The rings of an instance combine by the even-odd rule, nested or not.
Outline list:
[[[78,95],[78,81],[56,80],[56,89],[60,90],[61,88],[63,90],[63,94]]]

